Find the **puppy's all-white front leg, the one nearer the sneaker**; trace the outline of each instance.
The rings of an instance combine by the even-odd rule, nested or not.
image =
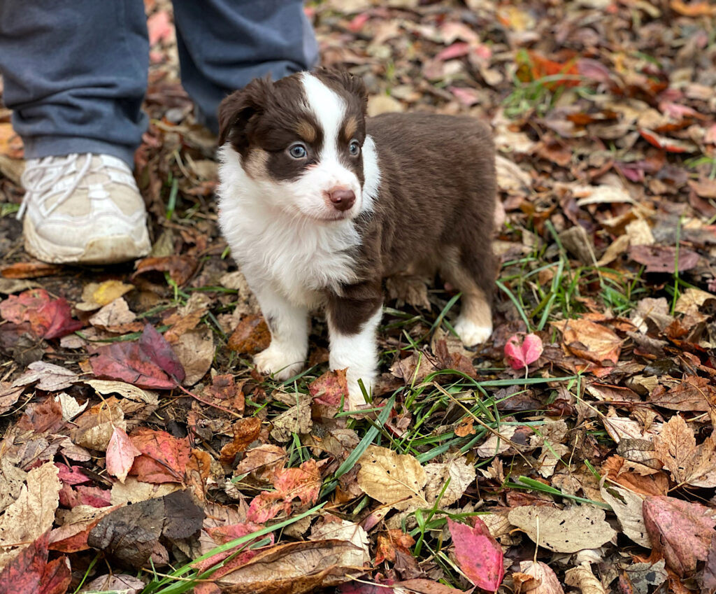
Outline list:
[[[304,366],[309,349],[308,308],[294,305],[266,284],[251,283],[261,312],[271,331],[271,345],[254,355],[261,373],[287,380]]]

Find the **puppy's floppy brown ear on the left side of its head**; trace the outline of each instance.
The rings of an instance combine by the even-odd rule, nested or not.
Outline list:
[[[231,142],[240,149],[246,145],[248,123],[266,106],[271,84],[269,78],[257,78],[224,98],[218,111],[219,146]]]

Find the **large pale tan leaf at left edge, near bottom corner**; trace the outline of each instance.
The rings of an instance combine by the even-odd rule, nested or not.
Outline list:
[[[52,462],[29,471],[26,487],[0,517],[0,571],[52,527],[60,487]]]

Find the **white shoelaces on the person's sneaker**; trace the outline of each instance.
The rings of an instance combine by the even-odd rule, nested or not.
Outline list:
[[[84,163],[78,167],[77,163],[82,157],[84,157]],[[42,206],[48,198],[56,196],[56,193],[49,190],[51,190],[58,181],[65,176],[74,176],[72,183],[67,186],[62,196],[57,198],[57,201],[45,212],[46,216],[51,214],[52,211],[62,205],[62,203],[77,190],[79,183],[87,174],[91,165],[91,153],[84,153],[82,155],[71,153],[64,157],[50,156],[39,159],[39,161],[36,162],[28,161],[21,177],[22,185],[25,188],[25,196],[22,198],[19,211],[17,211],[17,218],[22,219],[29,203],[29,196],[35,195],[39,201],[39,206]]]

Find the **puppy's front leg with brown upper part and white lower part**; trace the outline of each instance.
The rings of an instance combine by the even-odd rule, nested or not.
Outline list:
[[[332,370],[348,368],[348,407],[358,408],[365,398],[358,380],[370,393],[378,368],[376,331],[382,317],[380,284],[360,283],[344,287],[341,294],[329,295],[326,307],[331,340],[329,365]]]

